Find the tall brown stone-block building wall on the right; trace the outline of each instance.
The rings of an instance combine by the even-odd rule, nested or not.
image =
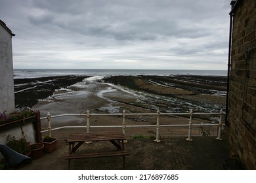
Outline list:
[[[256,1],[238,0],[232,10],[232,51],[228,103],[232,154],[245,169],[256,169]]]

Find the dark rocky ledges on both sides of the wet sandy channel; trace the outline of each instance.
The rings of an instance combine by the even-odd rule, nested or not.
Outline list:
[[[39,99],[53,95],[55,90],[70,88],[88,77],[51,76],[15,79],[16,107],[33,107]],[[225,76],[110,76],[97,82],[114,84],[137,94],[137,100],[127,101],[124,95],[111,95],[111,92],[106,92],[108,99],[152,110],[161,108],[165,112],[182,112],[189,109],[219,112],[225,107]],[[73,87],[72,90],[81,89]]]

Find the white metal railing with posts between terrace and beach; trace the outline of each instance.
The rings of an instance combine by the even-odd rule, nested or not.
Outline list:
[[[219,115],[219,123],[218,124],[192,124],[192,116],[194,114],[198,114],[198,115],[205,115],[205,114],[210,114],[210,115]],[[90,131],[91,127],[121,127],[123,134],[125,135],[125,130],[127,127],[156,127],[156,142],[160,142],[160,127],[188,127],[188,138],[186,138],[187,141],[192,141],[192,127],[193,126],[217,126],[218,127],[218,135],[217,135],[217,140],[222,140],[221,139],[221,129],[223,128],[223,114],[225,114],[225,112],[223,112],[223,110],[221,110],[221,112],[193,112],[192,110],[190,110],[190,112],[187,113],[161,113],[160,110],[158,110],[156,113],[126,113],[125,110],[123,110],[123,113],[117,113],[117,114],[91,114],[89,112],[89,110],[87,110],[86,114],[60,114],[60,115],[56,115],[56,116],[51,116],[51,114],[48,112],[47,117],[42,117],[40,118],[41,120],[43,119],[47,119],[47,123],[48,123],[48,128],[47,130],[43,130],[41,131],[41,133],[45,133],[48,132],[49,136],[51,137],[51,133],[53,130],[56,129],[64,129],[64,128],[75,128],[75,127],[79,127],[79,128],[83,128],[86,127],[87,132]],[[126,116],[133,116],[133,115],[156,115],[156,125],[126,125]],[[160,124],[160,116],[161,115],[189,115],[189,123],[188,124],[168,124],[168,125],[161,125]],[[86,126],[84,125],[80,125],[80,126],[62,126],[62,127],[56,127],[54,129],[52,129],[51,127],[51,118],[58,118],[58,117],[63,117],[63,116],[86,116]],[[90,125],[90,116],[123,116],[122,118],[122,125]]]

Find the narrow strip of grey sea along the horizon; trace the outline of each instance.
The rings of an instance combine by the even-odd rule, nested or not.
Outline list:
[[[14,69],[16,78],[39,78],[46,76],[85,75],[85,76],[115,76],[115,75],[200,75],[226,76],[226,70],[154,70],[154,69]]]

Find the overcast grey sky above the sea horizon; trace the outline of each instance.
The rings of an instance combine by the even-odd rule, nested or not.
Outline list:
[[[14,69],[227,69],[230,0],[0,0]]]

